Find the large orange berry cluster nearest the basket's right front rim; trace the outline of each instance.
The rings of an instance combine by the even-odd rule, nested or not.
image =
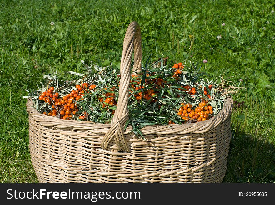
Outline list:
[[[209,120],[209,117],[213,114],[212,106],[208,105],[208,101],[202,100],[201,103],[195,108],[191,104],[181,103],[181,107],[178,109],[178,115],[183,120],[197,120],[205,121]]]

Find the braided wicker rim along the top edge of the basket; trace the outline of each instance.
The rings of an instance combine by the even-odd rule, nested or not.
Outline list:
[[[63,120],[63,119],[60,119],[57,117],[44,115],[35,109],[35,107],[33,106],[33,102],[30,98],[27,98],[26,107],[27,107],[27,113],[29,114],[29,116],[34,117],[37,121],[40,121],[40,120],[45,121],[46,124],[51,124],[51,123],[53,124],[54,122],[56,122],[57,124],[68,124],[69,123],[71,126],[83,125],[82,128],[84,128],[84,127],[88,128],[89,126],[101,126],[101,128],[93,128],[93,129],[99,129],[99,130],[102,130],[104,128],[108,128],[108,129],[111,128],[111,123],[97,123],[97,122],[92,122],[92,121]],[[187,123],[187,124],[148,125],[148,126],[141,128],[140,130],[142,131],[142,133],[144,135],[149,134],[149,133],[151,133],[151,134],[154,133],[154,134],[159,134],[159,135],[163,135],[163,134],[167,135],[167,134],[174,134],[174,133],[179,133],[179,132],[180,132],[180,134],[184,134],[184,133],[188,133],[190,131],[196,131],[197,133],[203,133],[203,132],[210,130],[210,128],[216,127],[223,121],[227,120],[227,118],[230,117],[230,115],[231,115],[232,109],[233,109],[232,97],[228,96],[227,98],[224,99],[223,109],[220,110],[217,113],[217,115],[213,116],[209,120],[200,121],[200,122],[196,122],[196,123]],[[62,122],[65,122],[65,123],[62,123]],[[70,126],[67,126],[67,127],[70,127]],[[179,128],[181,128],[181,129],[179,129]],[[176,130],[176,129],[178,129],[178,130]],[[106,130],[106,129],[104,129],[104,130]],[[167,131],[167,130],[169,130],[169,131]],[[176,131],[173,131],[173,130],[176,130]],[[130,134],[131,131],[132,131],[132,126],[129,125],[126,128],[126,130],[124,131],[124,134]],[[166,131],[166,132],[163,133],[163,131],[164,132]]]

